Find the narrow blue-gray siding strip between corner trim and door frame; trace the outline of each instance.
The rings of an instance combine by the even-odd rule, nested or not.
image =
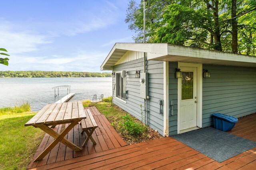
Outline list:
[[[169,114],[169,135],[177,134],[178,121],[178,79],[175,78],[175,68],[178,67],[177,62],[169,62],[169,101],[173,102],[174,114]]]

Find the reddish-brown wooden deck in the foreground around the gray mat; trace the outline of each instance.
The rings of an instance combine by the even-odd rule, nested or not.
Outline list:
[[[256,113],[239,119],[230,131],[256,141]],[[166,137],[38,166],[36,169],[200,169],[251,170],[256,167],[256,147],[218,163],[204,154]]]

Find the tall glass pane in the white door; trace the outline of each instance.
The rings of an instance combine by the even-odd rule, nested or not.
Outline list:
[[[181,100],[193,98],[193,72],[182,72]]]

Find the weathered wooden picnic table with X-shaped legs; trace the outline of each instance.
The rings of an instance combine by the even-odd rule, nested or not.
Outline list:
[[[34,117],[32,117],[25,126],[34,126],[42,129],[54,138],[54,141],[34,160],[42,160],[50,150],[52,150],[59,142],[63,143],[70,149],[78,152],[82,148],[74,143],[64,139],[68,132],[80,122],[86,119],[86,113],[82,102],[67,102],[58,104],[47,104]],[[59,124],[70,123],[68,127],[60,134],[56,133],[48,126],[56,126]]]

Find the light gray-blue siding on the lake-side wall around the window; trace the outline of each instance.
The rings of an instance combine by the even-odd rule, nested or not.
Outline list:
[[[143,99],[140,98],[140,82],[139,78],[134,78],[136,70],[143,72],[143,58],[126,63],[117,64],[114,66],[113,71],[127,71],[126,76],[126,90],[128,90],[128,98],[122,102],[114,97],[114,104],[121,107],[137,119],[141,120],[140,105],[144,110]],[[149,96],[148,100],[148,125],[163,135],[163,115],[159,114],[158,101],[163,100],[163,62],[162,61],[147,61],[146,70],[149,73]],[[115,85],[115,78],[113,78],[113,88]],[[114,91],[116,96],[116,90]]]

